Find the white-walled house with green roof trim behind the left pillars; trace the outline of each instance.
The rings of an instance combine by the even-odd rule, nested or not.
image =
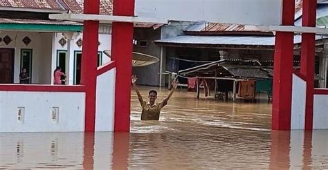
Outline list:
[[[81,13],[82,1],[1,1],[0,83],[19,83],[27,68],[31,84],[52,84],[53,70],[60,66],[69,80],[80,84],[83,24],[53,21],[49,14]],[[111,15],[112,4],[102,1],[100,13]],[[102,55],[111,47],[111,27],[100,26],[98,65],[109,62]]]

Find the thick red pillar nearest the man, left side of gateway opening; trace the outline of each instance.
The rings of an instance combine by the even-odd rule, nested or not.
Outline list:
[[[134,0],[113,0],[113,15],[134,16]],[[113,22],[111,59],[116,62],[114,131],[129,132],[134,23]]]

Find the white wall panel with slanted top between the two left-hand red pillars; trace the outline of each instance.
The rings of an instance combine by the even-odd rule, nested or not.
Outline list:
[[[97,77],[95,131],[113,131],[115,75],[113,68]]]

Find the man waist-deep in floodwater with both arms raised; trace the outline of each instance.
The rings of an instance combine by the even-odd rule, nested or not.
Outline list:
[[[143,100],[143,97],[140,95],[140,91],[136,86],[136,76],[132,76],[132,85],[134,87],[134,91],[138,95],[138,100],[143,108],[141,112],[141,120],[159,120],[159,115],[161,113],[161,109],[167,104],[167,100],[170,99],[172,94],[174,93],[176,87],[178,86],[178,81],[174,80],[172,83],[172,90],[170,91],[169,95],[160,103],[156,103],[157,99],[157,91],[151,90],[148,93],[149,102]]]

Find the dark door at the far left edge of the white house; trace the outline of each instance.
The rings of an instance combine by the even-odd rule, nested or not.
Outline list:
[[[12,48],[0,48],[0,83],[14,82],[15,50]]]

